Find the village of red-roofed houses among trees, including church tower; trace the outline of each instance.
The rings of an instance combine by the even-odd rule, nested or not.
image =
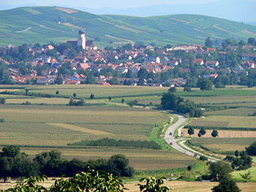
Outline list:
[[[2,84],[101,84],[197,87],[200,78],[217,88],[255,86],[256,42],[225,39],[222,47],[144,45],[98,49],[78,32],[78,41],[60,45],[7,45],[0,48]],[[254,70],[255,69],[255,70]],[[250,76],[251,75],[251,76]]]

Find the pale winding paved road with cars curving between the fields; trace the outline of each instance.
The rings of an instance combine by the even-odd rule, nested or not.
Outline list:
[[[184,145],[185,141],[180,142],[180,145],[182,147],[177,144],[178,140],[181,140],[181,139],[175,139],[175,137],[173,137],[173,134],[177,128],[179,128],[183,123],[186,122],[187,118],[185,118],[183,115],[178,115],[178,114],[173,114],[173,115],[176,115],[178,117],[178,121],[174,123],[172,126],[170,126],[169,128],[167,128],[167,131],[165,132],[165,141],[167,142],[168,145],[170,145],[170,142],[172,142],[173,145],[171,146],[174,149],[180,151],[181,153],[186,153],[187,155],[192,155],[192,156],[194,156],[195,153],[197,153],[198,154],[197,158],[199,158],[200,155],[203,155],[203,154],[198,153],[197,151],[192,150],[186,145]],[[181,137],[181,128],[178,129],[178,136]],[[204,155],[204,156],[208,158],[208,161],[218,161],[217,158],[212,158],[208,155]]]

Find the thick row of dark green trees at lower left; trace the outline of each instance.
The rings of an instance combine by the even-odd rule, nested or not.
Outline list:
[[[78,172],[87,171],[88,167],[104,170],[118,177],[132,177],[135,170],[129,166],[129,160],[124,155],[113,155],[110,159],[95,161],[67,161],[57,150],[43,152],[31,160],[26,153],[21,153],[16,146],[3,147],[0,154],[0,177],[7,178],[29,177],[45,174],[48,177],[61,177],[65,174],[72,177]]]

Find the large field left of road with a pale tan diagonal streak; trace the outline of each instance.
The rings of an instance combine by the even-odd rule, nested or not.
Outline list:
[[[165,113],[135,107],[2,105],[0,145],[65,146],[82,139],[146,140]]]

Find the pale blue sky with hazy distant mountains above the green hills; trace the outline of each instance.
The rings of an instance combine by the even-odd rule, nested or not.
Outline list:
[[[98,15],[199,14],[256,24],[256,0],[0,0],[0,10],[25,6],[69,7]]]

